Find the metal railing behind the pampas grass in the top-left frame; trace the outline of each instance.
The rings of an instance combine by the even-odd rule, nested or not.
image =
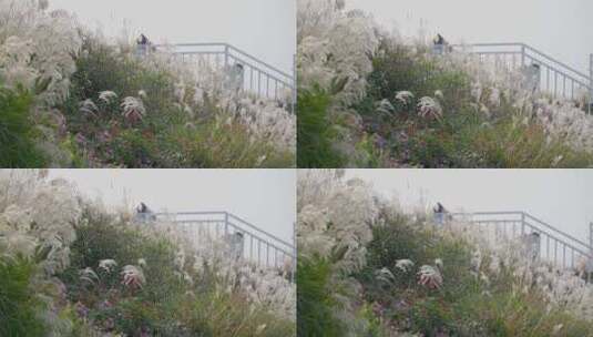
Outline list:
[[[168,50],[185,62],[208,64],[217,71],[231,74],[238,85],[235,88],[255,94],[256,98],[283,100],[289,94],[290,104],[296,103],[296,74],[289,74],[267,62],[228,43],[177,43],[155,45],[156,50]],[[293,70],[294,72],[294,70]],[[294,110],[293,110],[294,111]]]

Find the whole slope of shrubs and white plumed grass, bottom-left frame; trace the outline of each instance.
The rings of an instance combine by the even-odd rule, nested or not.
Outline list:
[[[279,269],[108,213],[62,181],[0,171],[0,186],[1,336],[296,334]]]

